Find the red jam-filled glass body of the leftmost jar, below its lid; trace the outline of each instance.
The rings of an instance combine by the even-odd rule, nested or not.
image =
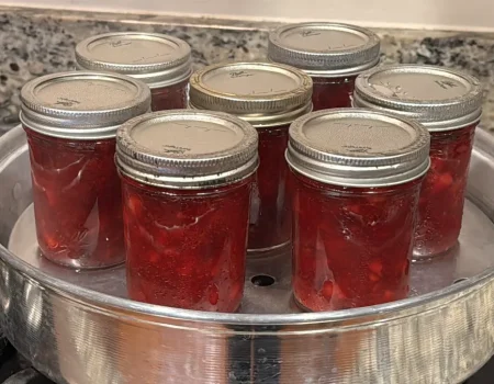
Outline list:
[[[24,128],[42,253],[58,264],[74,268],[122,263],[115,139],[69,140]]]

